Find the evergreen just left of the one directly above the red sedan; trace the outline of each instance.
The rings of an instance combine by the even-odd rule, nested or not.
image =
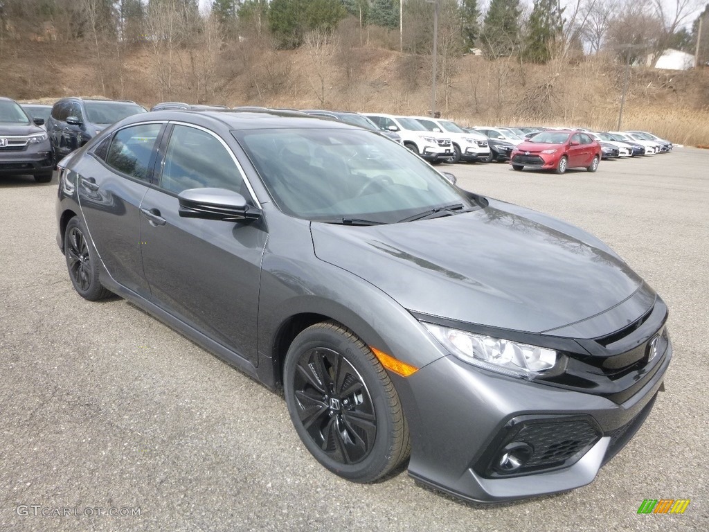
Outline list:
[[[481,48],[489,57],[512,55],[520,43],[520,1],[492,0],[485,15]]]

